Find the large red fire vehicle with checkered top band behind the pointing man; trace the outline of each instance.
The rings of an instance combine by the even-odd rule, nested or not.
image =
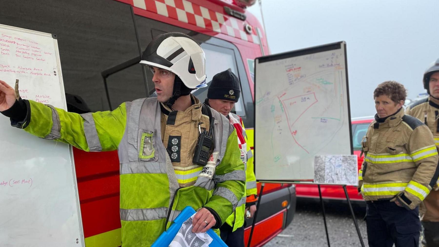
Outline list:
[[[57,36],[68,111],[87,113],[154,93],[140,54],[161,33],[185,33],[206,55],[207,81],[231,69],[241,81],[234,111],[253,149],[254,59],[269,54],[261,24],[245,7],[255,0],[3,1],[0,23]],[[194,94],[203,102],[207,90]],[[87,247],[121,245],[117,152],[73,149]],[[151,198],[151,200],[154,200]],[[252,246],[282,231],[295,212],[295,187],[266,185]],[[252,220],[246,220],[248,239]]]

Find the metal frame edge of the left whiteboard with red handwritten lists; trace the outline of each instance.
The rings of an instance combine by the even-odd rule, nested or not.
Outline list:
[[[31,34],[35,34],[35,35],[41,35],[41,36],[46,36],[46,37],[52,37],[53,41],[54,41],[54,48],[55,48],[55,57],[56,57],[56,62],[57,62],[57,68],[58,68],[58,79],[60,82],[60,88],[61,88],[61,94],[64,95],[62,97],[64,104],[63,107],[65,110],[67,110],[67,102],[65,99],[65,89],[64,89],[64,81],[62,79],[62,71],[61,71],[61,60],[59,57],[59,49],[58,49],[58,40],[57,40],[57,36],[54,34],[50,34],[50,33],[43,33],[43,32],[39,32],[39,31],[34,31],[34,30],[29,30],[29,29],[23,29],[23,28],[19,28],[19,27],[13,27],[13,26],[9,26],[9,25],[3,25],[0,24],[0,28],[3,29],[10,29],[13,31],[18,31],[18,32],[23,32],[23,33],[31,33]],[[70,152],[70,158],[72,159],[72,175],[73,175],[73,181],[75,182],[73,184],[74,189],[75,189],[75,196],[76,196],[76,209],[78,212],[78,218],[79,218],[79,240],[80,243],[82,244],[82,247],[85,247],[85,239],[84,239],[84,228],[83,228],[83,224],[82,224],[82,214],[81,214],[81,207],[80,207],[80,203],[79,203],[79,193],[78,193],[78,180],[76,179],[76,168],[75,168],[75,159],[73,156],[73,147],[72,145],[68,144],[69,147],[69,152]],[[78,240],[78,241],[79,241]]]

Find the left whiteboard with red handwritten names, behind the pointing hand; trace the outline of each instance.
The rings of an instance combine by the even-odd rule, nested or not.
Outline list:
[[[0,25],[0,80],[66,109],[56,36]],[[0,116],[0,245],[84,246],[72,147]]]

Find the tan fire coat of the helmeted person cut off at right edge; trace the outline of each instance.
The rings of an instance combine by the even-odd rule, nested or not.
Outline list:
[[[407,107],[406,114],[424,122],[435,138],[436,148],[439,147],[439,100],[428,97]],[[436,182],[436,186],[438,186]],[[437,189],[437,187],[436,187]],[[420,207],[422,221],[439,222],[439,191],[432,191]]]

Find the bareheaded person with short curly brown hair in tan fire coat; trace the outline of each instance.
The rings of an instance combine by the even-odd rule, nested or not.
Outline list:
[[[374,91],[375,120],[363,138],[359,189],[366,200],[371,247],[417,247],[418,205],[436,184],[438,153],[432,132],[404,115],[403,85],[386,81]]]

